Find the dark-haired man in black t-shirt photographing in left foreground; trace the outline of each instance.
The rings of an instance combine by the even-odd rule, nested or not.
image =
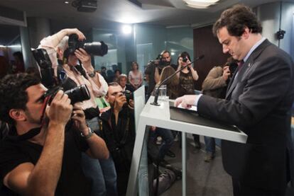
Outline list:
[[[0,147],[1,192],[89,195],[81,151],[108,158],[107,146],[67,94],[58,91],[48,105],[46,91],[31,74],[8,75],[0,82],[0,120],[13,124]]]

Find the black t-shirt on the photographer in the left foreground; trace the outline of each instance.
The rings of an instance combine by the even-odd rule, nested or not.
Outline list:
[[[7,173],[21,163],[30,162],[36,165],[43,146],[19,140],[16,129],[13,128],[9,135],[0,143],[0,178],[1,182]],[[89,195],[92,182],[82,172],[81,151],[88,149],[85,139],[80,137],[80,132],[68,125],[65,131],[65,148],[62,158],[62,170],[58,180],[55,195]],[[50,171],[48,171],[50,172]],[[8,189],[3,186],[2,192]],[[9,195],[16,195],[9,191]]]

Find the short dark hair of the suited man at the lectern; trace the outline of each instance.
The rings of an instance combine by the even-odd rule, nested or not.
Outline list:
[[[257,20],[256,14],[248,6],[241,4],[228,8],[214,23],[212,32],[217,36],[220,28],[227,27],[229,35],[239,37],[247,27],[251,33],[261,33],[261,23]]]

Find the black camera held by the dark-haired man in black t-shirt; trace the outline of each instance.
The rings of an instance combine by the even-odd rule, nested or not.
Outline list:
[[[48,91],[46,91],[43,95],[43,99],[49,97],[48,99],[48,105],[50,105],[51,101],[55,97],[56,93],[58,93],[59,90],[63,90],[62,87],[56,86],[55,88],[51,88]],[[89,89],[85,84],[81,86],[77,86],[75,88],[72,88],[70,90],[65,91],[65,94],[67,94],[68,98],[71,100],[71,104],[74,105],[77,102],[82,102],[83,100],[89,100],[90,94]]]

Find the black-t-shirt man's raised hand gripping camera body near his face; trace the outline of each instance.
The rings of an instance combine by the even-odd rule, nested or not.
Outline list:
[[[46,109],[46,115],[50,122],[66,125],[72,114],[70,98],[63,91],[58,91],[50,106]]]

